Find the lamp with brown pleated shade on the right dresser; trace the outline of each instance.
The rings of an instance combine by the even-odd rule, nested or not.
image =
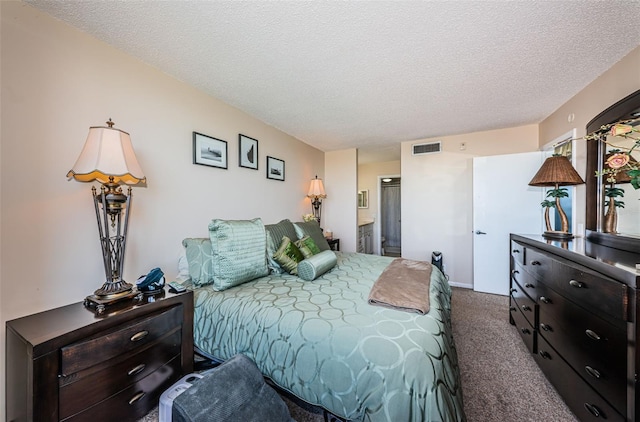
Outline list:
[[[568,196],[560,186],[580,185],[584,183],[582,177],[573,168],[569,159],[562,155],[553,155],[547,158],[540,170],[533,176],[529,186],[553,186],[554,189],[547,192],[547,196],[555,198],[555,208],[558,210],[562,228],[560,231],[547,230],[543,236],[552,239],[571,239],[573,235],[569,233],[569,220],[560,205],[560,198]]]

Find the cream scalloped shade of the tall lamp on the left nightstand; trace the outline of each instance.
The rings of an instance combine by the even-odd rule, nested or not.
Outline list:
[[[146,177],[133,151],[127,132],[110,127],[90,127],[82,152],[67,177],[79,182],[109,182],[135,185]]]

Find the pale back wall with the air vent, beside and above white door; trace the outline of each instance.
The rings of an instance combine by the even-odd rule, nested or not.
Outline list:
[[[413,144],[434,140],[441,153],[411,154]],[[537,125],[403,142],[402,256],[427,260],[441,251],[451,282],[471,287],[473,157],[537,149]]]

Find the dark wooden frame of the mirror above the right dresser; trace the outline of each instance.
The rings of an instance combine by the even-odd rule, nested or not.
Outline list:
[[[602,126],[633,118],[640,118],[640,90],[626,96],[594,117],[587,123],[587,135],[601,130]],[[602,189],[604,184],[602,176],[593,177],[592,175],[601,170],[605,147],[603,142],[587,141],[586,237],[593,243],[640,253],[640,236],[604,233],[598,227],[598,220],[601,220],[604,215],[604,189]]]

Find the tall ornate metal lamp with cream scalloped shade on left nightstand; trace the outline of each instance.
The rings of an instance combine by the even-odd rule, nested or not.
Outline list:
[[[97,193],[95,186],[91,191],[106,281],[93,295],[87,296],[84,302],[87,307],[95,307],[98,314],[117,301],[141,297],[141,293],[122,279],[131,188],[124,194],[120,184],[146,184],[147,179],[138,164],[129,134],[114,128],[113,124],[109,119],[106,127],[89,128],[82,152],[67,173],[69,179],[79,182],[98,181],[102,184],[100,193]]]

